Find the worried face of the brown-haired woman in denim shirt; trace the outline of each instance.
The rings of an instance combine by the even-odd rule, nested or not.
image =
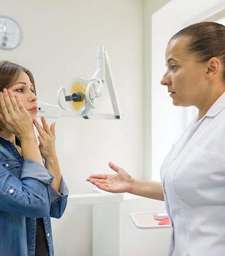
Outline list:
[[[29,76],[25,72],[21,72],[17,81],[7,89],[12,90],[14,94],[20,97],[25,109],[29,111],[32,118],[35,118],[38,112],[37,97],[34,94],[34,86],[31,84]]]

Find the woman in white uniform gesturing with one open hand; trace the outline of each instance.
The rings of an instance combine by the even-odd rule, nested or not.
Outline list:
[[[113,193],[164,200],[172,224],[169,256],[224,256],[225,26],[202,22],[180,30],[165,62],[161,84],[173,104],[195,106],[199,114],[165,158],[162,183],[133,179],[113,163],[116,174],[87,181]]]

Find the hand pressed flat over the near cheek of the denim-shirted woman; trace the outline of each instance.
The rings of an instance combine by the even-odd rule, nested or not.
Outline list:
[[[6,129],[20,138],[34,134],[33,120],[22,100],[12,90],[0,92],[0,120]]]

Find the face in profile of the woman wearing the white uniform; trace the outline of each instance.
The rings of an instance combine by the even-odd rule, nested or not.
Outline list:
[[[188,42],[185,37],[169,42],[165,51],[167,71],[161,84],[168,87],[174,105],[199,108],[207,95],[207,63],[197,62],[194,54],[186,52]]]

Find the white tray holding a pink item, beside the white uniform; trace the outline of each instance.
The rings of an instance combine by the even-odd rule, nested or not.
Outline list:
[[[154,214],[156,212],[134,212],[130,216],[135,226],[144,230],[171,227],[170,225],[159,225],[159,221],[154,219]]]

